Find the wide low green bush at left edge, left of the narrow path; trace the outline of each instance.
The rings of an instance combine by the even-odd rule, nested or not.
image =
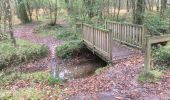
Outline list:
[[[0,42],[0,70],[9,66],[38,60],[47,56],[48,48],[28,41],[17,40],[17,47],[11,41]]]

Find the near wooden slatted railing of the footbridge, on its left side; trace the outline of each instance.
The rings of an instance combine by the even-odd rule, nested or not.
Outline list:
[[[84,42],[94,52],[105,60],[112,60],[112,33],[109,30],[82,24]]]

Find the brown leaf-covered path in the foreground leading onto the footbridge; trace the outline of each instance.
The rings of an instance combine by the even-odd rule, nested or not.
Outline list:
[[[106,68],[99,75],[67,83],[68,100],[170,100],[170,74],[160,82],[140,84],[143,57],[135,56]]]

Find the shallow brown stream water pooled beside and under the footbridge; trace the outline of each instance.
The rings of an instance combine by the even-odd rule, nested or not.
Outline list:
[[[59,64],[57,60],[53,58],[51,61],[52,75],[61,80],[69,81],[93,75],[98,68],[106,66],[104,61],[91,54],[90,57],[87,57],[86,55],[78,59],[78,61],[74,60],[64,61]]]

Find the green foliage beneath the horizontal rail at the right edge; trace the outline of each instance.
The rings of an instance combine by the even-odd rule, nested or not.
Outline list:
[[[154,58],[158,64],[166,64],[170,61],[170,43],[154,50]]]

